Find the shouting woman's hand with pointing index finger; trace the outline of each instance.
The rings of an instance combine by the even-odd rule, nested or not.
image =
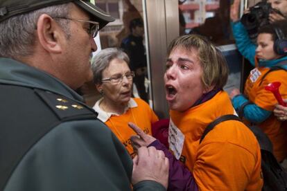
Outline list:
[[[153,141],[157,140],[153,136],[145,134],[143,130],[137,127],[137,125],[134,125],[132,122],[129,122],[128,126],[130,126],[130,128],[132,128],[134,132],[137,133],[137,136],[130,137],[130,140],[132,140],[132,147],[134,148],[134,152],[137,152],[139,147],[148,147],[150,143],[153,143]]]

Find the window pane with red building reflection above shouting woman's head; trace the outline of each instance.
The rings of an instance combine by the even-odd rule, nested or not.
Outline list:
[[[186,0],[179,1],[180,17],[184,17],[183,34],[200,34],[216,45],[234,43],[229,27],[231,0]],[[182,21],[180,21],[182,25]]]

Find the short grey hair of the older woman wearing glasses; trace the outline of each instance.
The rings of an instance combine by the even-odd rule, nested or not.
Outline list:
[[[114,59],[130,63],[130,59],[126,53],[119,48],[105,48],[92,59],[92,71],[94,73],[94,83],[102,84],[103,71],[110,66],[110,62]]]

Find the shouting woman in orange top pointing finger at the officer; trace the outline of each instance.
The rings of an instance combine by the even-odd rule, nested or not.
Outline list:
[[[184,35],[168,46],[164,81],[173,156],[158,140],[130,124],[141,136],[132,137],[135,145],[155,146],[169,158],[168,190],[261,190],[259,143],[242,122],[220,122],[200,143],[209,123],[234,114],[223,91],[227,76],[223,55],[207,39]]]

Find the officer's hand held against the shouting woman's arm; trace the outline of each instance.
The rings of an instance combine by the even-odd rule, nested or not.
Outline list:
[[[165,188],[168,186],[168,158],[164,152],[155,147],[140,147],[138,155],[132,160],[132,183],[140,181],[156,181]]]

